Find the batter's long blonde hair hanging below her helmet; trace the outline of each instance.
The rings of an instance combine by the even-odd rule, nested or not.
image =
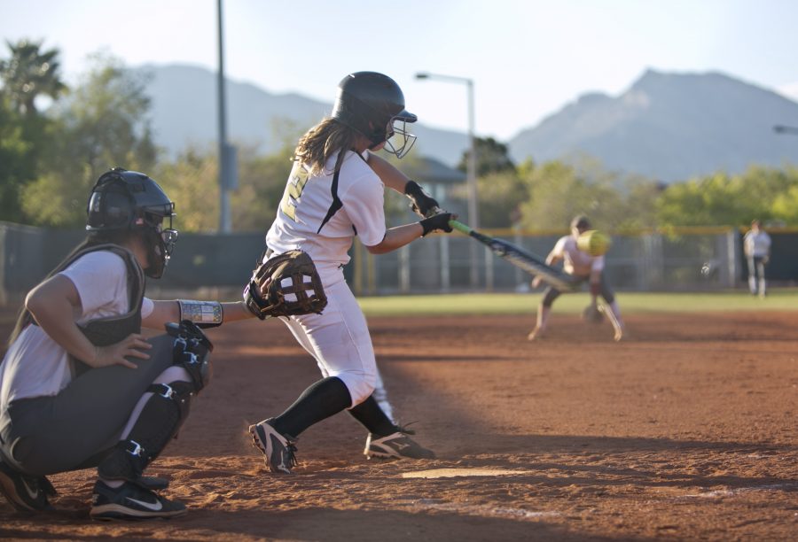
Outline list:
[[[313,128],[310,128],[304,136],[301,136],[296,149],[293,151],[293,159],[302,162],[309,167],[310,174],[322,174],[327,160],[336,152],[344,151],[338,155],[333,171],[338,171],[345,151],[351,150],[359,137],[354,128],[349,128],[345,124],[335,119],[325,119]]]

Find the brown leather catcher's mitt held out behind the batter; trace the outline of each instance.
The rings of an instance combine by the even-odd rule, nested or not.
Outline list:
[[[264,320],[267,316],[321,314],[327,296],[313,260],[307,252],[297,250],[260,264],[244,289],[244,303]]]

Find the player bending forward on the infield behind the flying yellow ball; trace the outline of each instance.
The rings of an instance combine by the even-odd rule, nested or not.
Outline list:
[[[612,311],[615,321],[617,321],[618,329],[615,332],[615,340],[620,340],[623,333],[623,321],[621,319],[621,309],[618,307],[618,302],[615,300],[613,290],[607,283],[606,275],[604,274],[604,256],[591,256],[587,252],[579,250],[577,246],[577,239],[585,231],[591,228],[591,222],[584,216],[577,216],[571,221],[571,235],[560,237],[557,244],[554,245],[552,252],[546,257],[546,263],[550,266],[563,261],[563,270],[568,275],[574,275],[582,279],[584,282],[590,284],[591,289],[591,304],[596,306],[598,303],[599,295],[604,298]],[[532,287],[537,288],[541,283],[540,277],[535,277],[532,281]],[[537,324],[535,329],[528,335],[530,341],[537,338],[544,337],[546,326],[549,321],[549,314],[552,312],[552,304],[554,300],[562,293],[553,286],[549,286],[544,290],[544,298],[540,306],[537,307]]]

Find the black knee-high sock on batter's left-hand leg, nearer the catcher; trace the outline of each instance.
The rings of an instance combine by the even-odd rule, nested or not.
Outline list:
[[[314,423],[338,414],[351,404],[352,398],[347,385],[340,378],[330,376],[302,391],[299,399],[293,401],[293,405],[270,423],[284,435],[299,437],[302,431]]]

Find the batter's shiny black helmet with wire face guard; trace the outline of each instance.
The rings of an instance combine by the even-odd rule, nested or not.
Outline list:
[[[407,132],[406,123],[418,117],[404,109],[402,89],[387,75],[356,72],[344,77],[338,84],[332,118],[366,136],[372,149],[385,142],[386,151],[398,158],[416,141],[416,136]]]

